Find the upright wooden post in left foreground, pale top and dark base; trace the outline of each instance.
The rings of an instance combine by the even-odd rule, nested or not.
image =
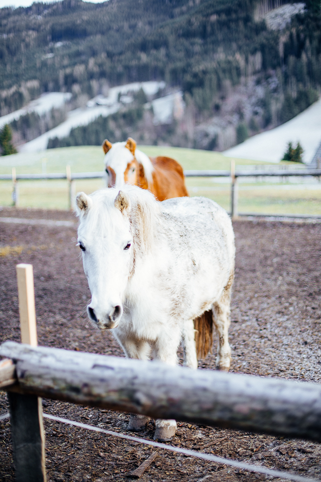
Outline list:
[[[21,341],[37,345],[32,265],[17,265]],[[46,482],[42,401],[8,392],[17,482]]]

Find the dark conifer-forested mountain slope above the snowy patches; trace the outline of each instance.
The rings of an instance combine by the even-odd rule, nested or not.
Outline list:
[[[318,98],[320,1],[308,0],[291,24],[272,30],[260,12],[281,3],[63,0],[2,8],[0,115],[44,91],[70,91],[81,106],[108,86],[165,80],[186,102],[185,125],[173,125],[167,142],[228,148]]]

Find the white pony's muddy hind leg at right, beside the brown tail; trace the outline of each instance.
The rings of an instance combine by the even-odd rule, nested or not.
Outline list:
[[[216,368],[229,371],[231,365],[231,347],[229,345],[229,326],[231,323],[231,291],[233,274],[224,288],[219,301],[213,304],[213,322],[218,334]]]

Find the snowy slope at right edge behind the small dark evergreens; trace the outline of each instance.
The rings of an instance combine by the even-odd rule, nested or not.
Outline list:
[[[321,99],[291,121],[257,134],[222,153],[228,157],[280,162],[290,141],[294,144],[300,142],[304,150],[303,162],[310,164],[321,142]]]

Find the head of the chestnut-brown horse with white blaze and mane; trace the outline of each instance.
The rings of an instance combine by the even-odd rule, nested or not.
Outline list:
[[[136,142],[128,137],[126,142],[112,144],[107,139],[102,144],[105,152],[107,187],[121,188],[125,183],[147,188],[152,181],[153,166],[144,152],[136,149]]]

